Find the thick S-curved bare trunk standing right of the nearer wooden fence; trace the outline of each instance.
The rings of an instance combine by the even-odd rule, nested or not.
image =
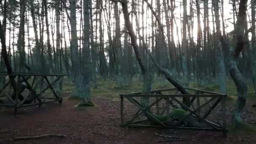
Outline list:
[[[237,23],[236,23],[236,47],[235,50],[229,53],[229,73],[235,82],[237,87],[237,103],[232,112],[232,127],[233,128],[243,128],[244,123],[242,119],[243,108],[246,103],[246,94],[248,91],[247,85],[245,83],[245,79],[243,78],[242,73],[237,68],[237,57],[239,56],[240,52],[243,50],[245,46],[245,25],[246,23],[246,10],[247,10],[247,1],[248,0],[241,0],[239,3],[239,12],[237,16]],[[229,49],[225,49],[225,52],[228,53]]]

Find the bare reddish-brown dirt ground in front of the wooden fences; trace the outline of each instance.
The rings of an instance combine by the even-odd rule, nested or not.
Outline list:
[[[84,109],[74,108],[77,101],[67,100],[62,105],[52,103],[41,108],[23,108],[25,111],[20,109],[17,117],[13,115],[13,109],[0,108],[0,144],[256,144],[255,137],[228,134],[225,139],[221,132],[123,128],[119,126],[118,101],[99,97],[93,101],[96,107]],[[245,109],[245,115],[251,121],[255,112],[248,109]],[[156,142],[166,138],[153,132],[179,136],[187,141]],[[67,137],[10,141],[17,136],[43,134],[63,134]]]

